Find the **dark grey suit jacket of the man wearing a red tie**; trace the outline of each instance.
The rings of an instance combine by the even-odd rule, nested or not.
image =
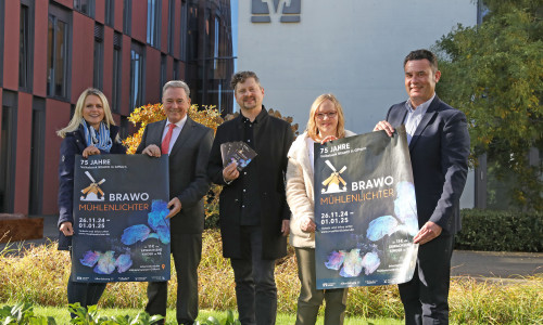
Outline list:
[[[136,153],[150,144],[159,147],[166,120],[146,127]],[[207,158],[213,143],[213,130],[187,117],[169,154],[169,198],[181,202],[181,211],[172,218],[172,234],[198,234],[204,226],[203,197],[210,191],[206,174]]]

